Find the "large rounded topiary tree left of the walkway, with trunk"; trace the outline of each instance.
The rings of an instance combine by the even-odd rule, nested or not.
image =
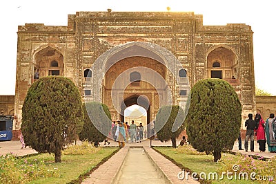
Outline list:
[[[42,77],[30,86],[22,107],[21,130],[26,145],[55,154],[77,139],[83,126],[81,95],[68,78]]]

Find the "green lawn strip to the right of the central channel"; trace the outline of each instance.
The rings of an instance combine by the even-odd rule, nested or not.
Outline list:
[[[200,174],[202,172],[209,174],[211,172],[219,173],[219,168],[222,167],[221,163],[215,163],[213,161],[212,155],[191,155],[191,154],[183,154],[179,153],[177,149],[172,147],[154,147],[155,150],[172,160],[175,164],[179,165],[185,171],[190,173],[197,172]],[[233,159],[236,160],[239,157],[233,154],[222,154],[221,160],[225,159]],[[234,163],[233,163],[234,164]],[[230,171],[231,172],[231,171]],[[204,176],[204,175],[202,175]],[[220,177],[221,175],[219,175]],[[208,175],[207,175],[208,177]],[[235,179],[227,179],[226,175],[224,175],[223,180],[207,180],[200,181],[201,183],[257,183],[253,181],[246,180],[235,180]]]

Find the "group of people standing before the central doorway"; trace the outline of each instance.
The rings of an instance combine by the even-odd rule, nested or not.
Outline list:
[[[144,136],[144,126],[142,123],[135,125],[134,120],[128,125],[128,122],[113,122],[111,126],[111,134],[113,139],[119,143],[119,147],[124,147],[125,143],[130,141],[141,142]]]

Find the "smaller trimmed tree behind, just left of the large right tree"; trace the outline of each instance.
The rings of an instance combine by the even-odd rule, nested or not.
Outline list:
[[[157,132],[159,140],[172,140],[172,147],[177,147],[176,138],[185,128],[184,118],[184,110],[178,105],[161,107],[156,115],[155,121],[155,127],[156,129],[159,129]],[[175,125],[177,125],[177,127],[174,127]]]

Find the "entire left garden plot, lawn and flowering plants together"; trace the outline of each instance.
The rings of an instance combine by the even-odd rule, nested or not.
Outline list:
[[[55,163],[54,154],[7,154],[0,157],[0,183],[81,183],[117,151],[119,147],[96,148],[84,142],[63,151],[61,163]]]

